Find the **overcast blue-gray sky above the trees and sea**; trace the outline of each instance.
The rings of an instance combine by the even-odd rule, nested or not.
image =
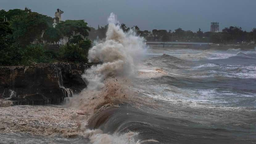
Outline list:
[[[0,9],[24,9],[54,17],[57,8],[63,20],[84,19],[90,26],[107,24],[114,12],[120,23],[141,30],[166,29],[210,31],[211,22],[220,29],[239,26],[251,31],[256,27],[256,0],[0,0]]]

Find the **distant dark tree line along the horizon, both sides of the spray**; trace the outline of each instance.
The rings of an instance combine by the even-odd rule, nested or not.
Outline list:
[[[91,27],[89,32],[89,38],[91,40],[104,39],[108,25],[104,27],[98,26],[98,29]],[[137,35],[144,37],[147,41],[182,41],[182,42],[205,42],[205,43],[251,43],[255,41],[256,28],[252,31],[243,31],[241,27],[226,27],[221,32],[204,32],[200,28],[198,31],[193,32],[191,30],[185,31],[182,28],[177,28],[174,31],[171,30],[157,30],[141,31],[138,26],[127,27],[124,23],[120,24],[120,28],[127,32],[129,30],[135,31]]]

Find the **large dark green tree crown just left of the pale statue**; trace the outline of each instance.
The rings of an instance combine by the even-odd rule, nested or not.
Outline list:
[[[25,8],[25,10],[9,10],[5,13],[13,29],[13,37],[22,46],[32,42],[41,43],[42,32],[46,30],[53,19]]]

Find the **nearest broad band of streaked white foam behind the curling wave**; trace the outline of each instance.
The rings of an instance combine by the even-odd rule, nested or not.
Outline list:
[[[191,107],[194,109],[244,109],[237,104],[245,99],[256,97],[255,93],[237,93],[218,88],[190,89],[178,88],[169,84],[153,84],[137,86],[143,96],[165,101],[170,105]]]

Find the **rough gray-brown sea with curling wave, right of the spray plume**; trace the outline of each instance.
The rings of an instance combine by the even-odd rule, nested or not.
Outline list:
[[[132,83],[134,101],[89,122],[105,141],[16,133],[0,143],[256,143],[256,51],[151,47]]]

